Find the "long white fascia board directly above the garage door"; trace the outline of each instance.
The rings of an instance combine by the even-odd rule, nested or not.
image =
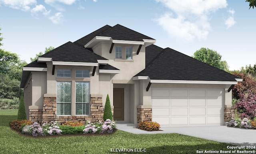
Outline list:
[[[237,84],[235,81],[150,80],[151,83],[171,84]]]

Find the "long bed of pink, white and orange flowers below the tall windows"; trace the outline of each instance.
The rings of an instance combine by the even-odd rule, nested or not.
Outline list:
[[[13,128],[13,125],[17,122],[11,122],[10,126]],[[19,122],[22,123],[22,122]],[[16,124],[17,125],[17,124]],[[15,125],[15,126],[16,126]],[[25,127],[25,125],[27,125]],[[107,119],[104,122],[92,123],[86,121],[86,124],[83,125],[79,122],[65,122],[62,125],[58,125],[58,122],[51,124],[44,123],[39,124],[37,122],[29,124],[20,124],[20,130],[24,134],[31,134],[32,136],[48,136],[48,135],[62,135],[62,134],[103,134],[103,133],[112,133],[116,129],[116,124],[114,121]],[[16,128],[16,127],[15,127]],[[26,131],[24,129],[27,129]]]

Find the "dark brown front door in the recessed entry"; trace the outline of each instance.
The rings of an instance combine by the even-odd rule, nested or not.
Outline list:
[[[114,120],[124,121],[124,88],[114,88]]]

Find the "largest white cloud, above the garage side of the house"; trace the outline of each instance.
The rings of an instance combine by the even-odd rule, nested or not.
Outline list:
[[[209,16],[226,8],[226,0],[156,0],[172,13],[166,12],[157,19],[158,24],[171,36],[184,40],[205,39],[211,30]]]

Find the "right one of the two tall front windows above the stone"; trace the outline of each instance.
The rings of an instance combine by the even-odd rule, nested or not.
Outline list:
[[[89,102],[89,82],[76,82],[76,115],[88,115]]]

